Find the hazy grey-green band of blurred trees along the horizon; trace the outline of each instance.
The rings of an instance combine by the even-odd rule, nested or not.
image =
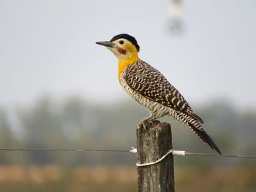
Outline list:
[[[204,120],[203,127],[217,142],[223,153],[255,154],[256,114],[238,112],[223,101],[214,101],[197,110]],[[33,107],[20,108],[18,119],[23,128],[20,145],[23,147],[49,148],[113,148],[127,149],[136,146],[135,127],[148,116],[145,108],[132,101],[115,101],[109,104],[94,104],[78,97],[57,102],[45,97]],[[171,118],[162,118],[171,123],[173,148],[189,152],[213,153],[187,127]],[[7,115],[0,112],[0,145],[11,147],[17,144],[11,131]],[[10,156],[4,153],[0,162],[7,164]],[[135,164],[135,155],[129,153],[67,153],[67,152],[25,152],[20,158],[26,164],[59,164],[73,166],[86,164],[113,165]],[[5,159],[5,160],[4,160]],[[12,158],[13,159],[13,158]],[[18,158],[16,158],[18,159]],[[240,164],[243,160],[221,158],[178,158],[178,165],[193,164]],[[12,160],[13,161],[13,160]]]

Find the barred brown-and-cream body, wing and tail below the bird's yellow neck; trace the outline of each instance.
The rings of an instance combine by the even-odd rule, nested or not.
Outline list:
[[[220,153],[217,145],[203,130],[200,124],[203,120],[192,111],[181,93],[157,69],[139,60],[127,66],[120,83],[133,99],[148,108],[151,116],[147,119],[170,115],[189,126],[203,142]]]

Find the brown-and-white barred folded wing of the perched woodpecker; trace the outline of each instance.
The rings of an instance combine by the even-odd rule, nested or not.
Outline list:
[[[144,61],[137,61],[124,71],[124,80],[132,90],[174,110],[184,112],[203,123],[173,85],[154,67]]]

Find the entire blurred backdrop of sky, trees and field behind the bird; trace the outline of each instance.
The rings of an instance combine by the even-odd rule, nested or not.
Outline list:
[[[256,154],[256,2],[0,0],[0,147],[136,146],[148,111],[97,41],[131,34],[224,154]],[[213,153],[170,118],[173,148]],[[256,161],[175,157],[176,191],[255,191]],[[0,191],[136,191],[136,156],[1,152]]]

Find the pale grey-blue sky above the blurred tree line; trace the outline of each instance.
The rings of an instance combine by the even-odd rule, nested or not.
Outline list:
[[[256,108],[256,1],[183,1],[185,31],[168,31],[170,1],[0,0],[0,106],[40,96],[129,99],[117,60],[95,42],[134,36],[140,58],[189,101]]]

